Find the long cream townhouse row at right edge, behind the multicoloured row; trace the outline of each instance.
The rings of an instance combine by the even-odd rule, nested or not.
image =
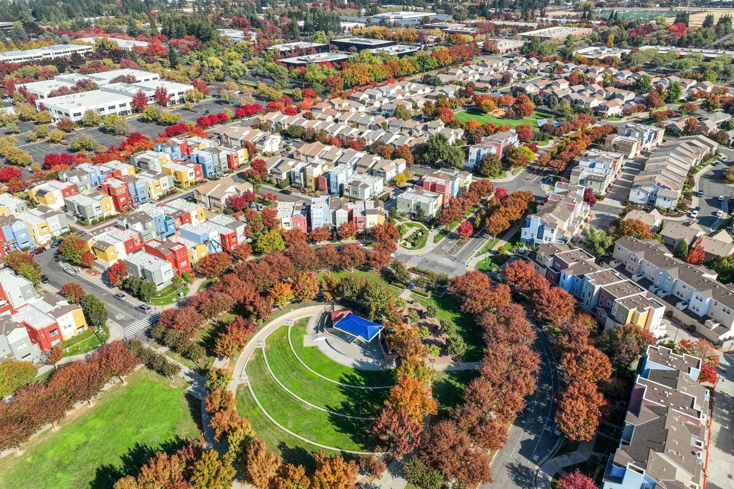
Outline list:
[[[662,299],[668,312],[709,341],[728,347],[734,339],[734,292],[716,272],[678,260],[657,240],[619,238],[614,266]]]

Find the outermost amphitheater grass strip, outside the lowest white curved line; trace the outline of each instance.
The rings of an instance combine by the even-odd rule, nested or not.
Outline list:
[[[237,411],[250,422],[252,430],[255,431],[255,436],[265,441],[269,450],[280,455],[283,463],[302,465],[309,471],[313,471],[315,467],[312,454],[318,452],[319,447],[289,435],[275,426],[255,404],[250,389],[244,384],[237,386]],[[327,452],[327,456],[339,453],[330,450],[325,450],[325,452]],[[348,454],[342,455],[347,457]]]

